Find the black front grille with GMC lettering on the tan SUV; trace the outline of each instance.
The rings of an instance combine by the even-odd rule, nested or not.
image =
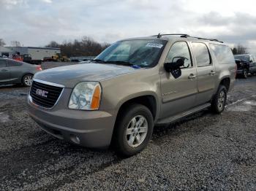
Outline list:
[[[45,108],[52,108],[59,96],[63,87],[56,87],[53,85],[46,85],[40,82],[32,82],[30,95],[34,104],[43,106]]]

